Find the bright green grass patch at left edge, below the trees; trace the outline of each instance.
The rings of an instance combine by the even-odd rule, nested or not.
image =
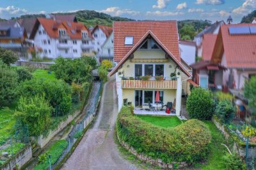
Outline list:
[[[15,120],[13,118],[13,111],[8,107],[0,109],[0,145],[5,143],[6,139],[10,138],[13,132]]]

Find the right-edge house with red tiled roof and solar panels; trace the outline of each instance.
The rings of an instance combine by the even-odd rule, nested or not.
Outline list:
[[[243,89],[244,82],[256,75],[256,25],[221,26],[211,62],[227,67],[223,73],[223,85]]]

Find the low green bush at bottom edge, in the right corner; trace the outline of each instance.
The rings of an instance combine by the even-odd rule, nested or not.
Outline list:
[[[225,167],[228,170],[245,170],[246,164],[243,163],[241,158],[239,158],[236,153],[233,153],[230,155],[230,153],[227,153],[225,156],[223,156],[223,161],[225,161]]]

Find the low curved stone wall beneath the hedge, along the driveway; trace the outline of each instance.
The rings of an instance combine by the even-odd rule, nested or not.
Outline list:
[[[143,153],[137,153],[137,151],[132,148],[132,146],[130,146],[129,144],[125,143],[124,141],[121,141],[120,138],[117,135],[117,139],[119,141],[119,143],[130,153],[132,153],[132,155],[134,155],[136,158],[142,160],[145,163],[154,165],[154,166],[159,166],[161,168],[165,168],[165,169],[177,169],[177,168],[184,168],[184,167],[188,167],[189,164],[187,164],[186,162],[172,162],[172,164],[168,164],[168,163],[164,163],[163,160],[161,159],[154,159],[151,157],[148,157],[147,155],[144,155]]]

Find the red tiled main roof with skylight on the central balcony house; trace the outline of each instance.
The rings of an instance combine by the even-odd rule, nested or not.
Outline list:
[[[175,20],[114,22],[113,30],[114,60],[117,62],[121,61],[148,31],[151,31],[177,61],[180,61],[177,21]],[[124,45],[125,36],[133,36],[133,45]]]

